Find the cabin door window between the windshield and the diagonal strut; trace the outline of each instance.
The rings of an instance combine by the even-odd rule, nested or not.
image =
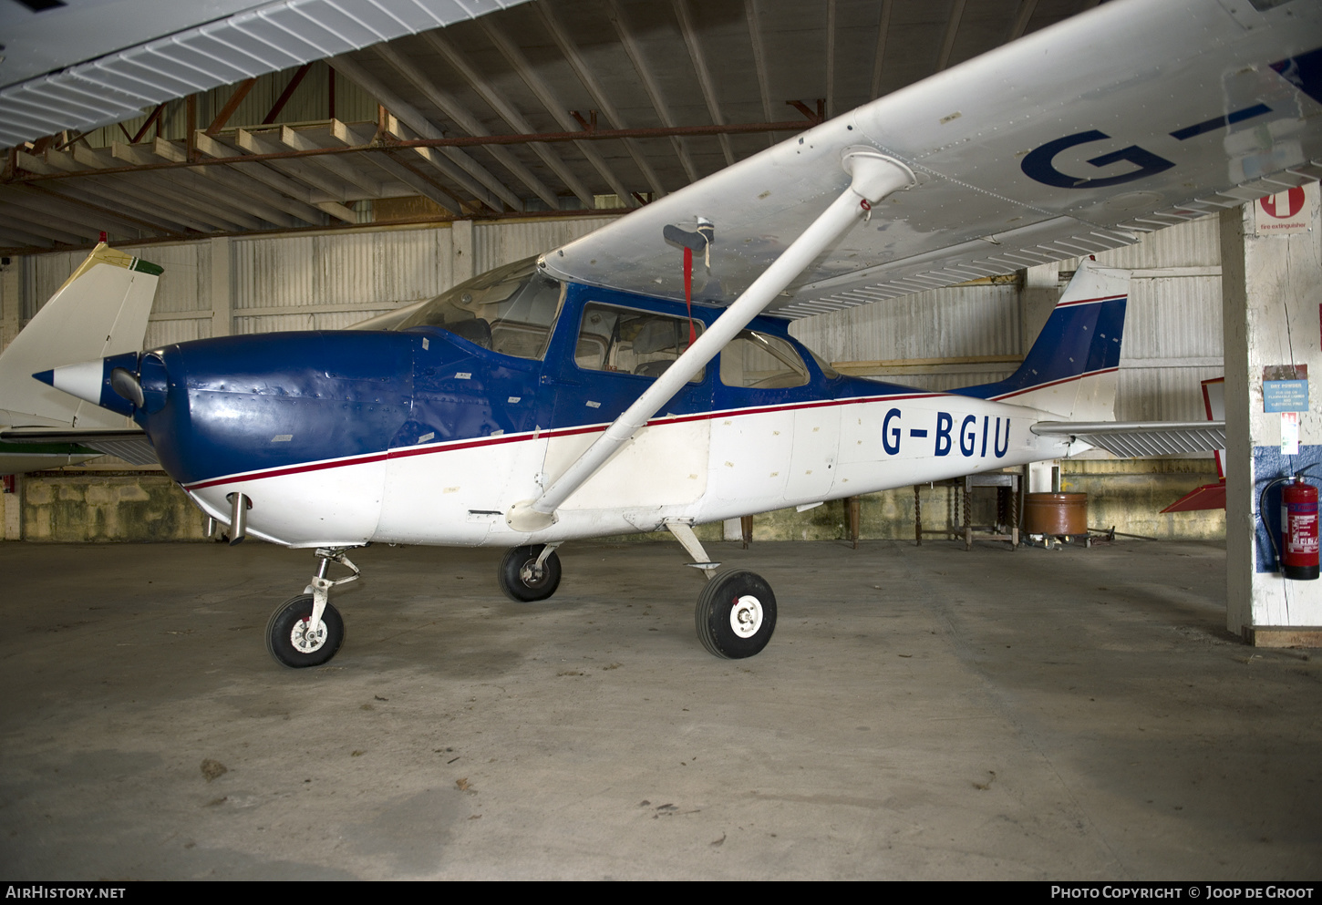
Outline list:
[[[697,336],[702,324],[693,321]],[[689,347],[689,320],[591,301],[583,307],[574,363],[590,371],[661,377]],[[706,369],[690,380],[701,383]]]

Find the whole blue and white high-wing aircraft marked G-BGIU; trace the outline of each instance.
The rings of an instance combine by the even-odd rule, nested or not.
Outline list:
[[[508,547],[501,587],[531,601],[558,585],[559,544],[656,530],[707,569],[702,643],[750,657],[776,597],[714,573],[694,523],[1136,433],[1224,443],[1216,424],[1097,423],[1126,283],[1087,263],[1011,378],[953,392],[841,377],[785,317],[1087,256],[1302,184],[1322,172],[1319,114],[1322,5],[1118,0],[362,329],[38,377],[131,415],[231,539],[316,550],[268,624],[286,666],[340,647],[328,596],[358,576],[354,547]]]

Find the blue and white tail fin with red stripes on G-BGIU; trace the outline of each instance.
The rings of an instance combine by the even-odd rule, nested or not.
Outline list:
[[[1081,262],[1019,370],[952,392],[1039,408],[1064,420],[1114,420],[1128,300],[1129,271]]]

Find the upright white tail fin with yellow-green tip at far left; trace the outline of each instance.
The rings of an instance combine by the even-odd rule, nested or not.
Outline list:
[[[122,416],[32,375],[61,365],[140,351],[163,272],[156,264],[98,244],[0,354],[0,423],[123,427]]]

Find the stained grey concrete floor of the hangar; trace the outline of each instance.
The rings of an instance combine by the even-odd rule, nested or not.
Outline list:
[[[534,605],[373,547],[291,671],[307,551],[0,544],[0,876],[1322,876],[1322,662],[1225,633],[1223,548],[961,547],[714,544],[780,600],[748,661],[673,543]]]

